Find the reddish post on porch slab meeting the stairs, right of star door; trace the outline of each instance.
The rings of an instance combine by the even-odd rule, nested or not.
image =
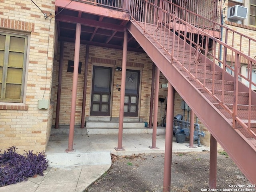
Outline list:
[[[154,121],[153,121],[153,134],[152,134],[152,146],[150,149],[158,149],[156,147],[156,129],[157,129],[157,112],[158,112],[158,93],[159,93],[159,78],[160,70],[156,67],[156,84],[155,84],[155,94],[154,94]]]

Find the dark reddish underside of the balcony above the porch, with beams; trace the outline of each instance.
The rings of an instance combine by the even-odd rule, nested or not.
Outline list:
[[[78,3],[78,2],[76,2]],[[56,24],[58,29],[58,40],[67,42],[75,42],[76,23],[81,23],[81,44],[102,46],[108,48],[123,49],[124,31],[128,23],[129,15],[124,18],[120,17],[118,10],[111,10],[110,16],[93,14],[96,9],[109,8],[94,6],[81,3],[79,10],[62,8],[56,5]],[[84,8],[81,9],[81,6]],[[86,10],[82,12],[81,10]],[[88,11],[89,10],[89,11]],[[129,13],[122,13],[129,14]],[[116,17],[113,17],[116,15]],[[111,17],[112,16],[112,17]],[[128,32],[128,50],[136,52],[144,52],[138,42]]]

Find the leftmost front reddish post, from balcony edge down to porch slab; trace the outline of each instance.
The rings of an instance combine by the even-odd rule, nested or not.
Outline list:
[[[80,36],[81,36],[81,24],[76,24],[76,40],[75,40],[75,55],[74,55],[74,72],[73,72],[73,84],[72,84],[72,100],[71,100],[71,114],[70,114],[70,126],[68,136],[68,149],[65,152],[72,152],[74,141],[74,127],[75,127],[75,114],[76,114],[76,94],[77,94],[77,80],[78,80],[78,63],[80,52]]]

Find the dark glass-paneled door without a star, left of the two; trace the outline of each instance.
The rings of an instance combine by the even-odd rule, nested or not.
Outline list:
[[[93,67],[90,115],[110,115],[111,78],[112,68],[102,66]]]

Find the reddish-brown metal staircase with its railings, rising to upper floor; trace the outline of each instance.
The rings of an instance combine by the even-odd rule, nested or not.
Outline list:
[[[172,2],[163,0],[157,6],[132,0],[127,28],[254,184],[256,84],[251,79],[256,60],[250,47],[256,41]],[[240,73],[241,63],[248,67],[246,76]]]

